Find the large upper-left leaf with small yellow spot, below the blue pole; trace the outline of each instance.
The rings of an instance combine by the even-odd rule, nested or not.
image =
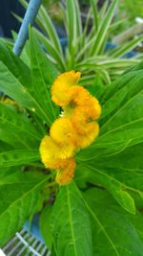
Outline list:
[[[0,90],[50,125],[51,120],[47,111],[33,97],[34,87],[30,69],[2,42],[0,42],[0,51]]]

